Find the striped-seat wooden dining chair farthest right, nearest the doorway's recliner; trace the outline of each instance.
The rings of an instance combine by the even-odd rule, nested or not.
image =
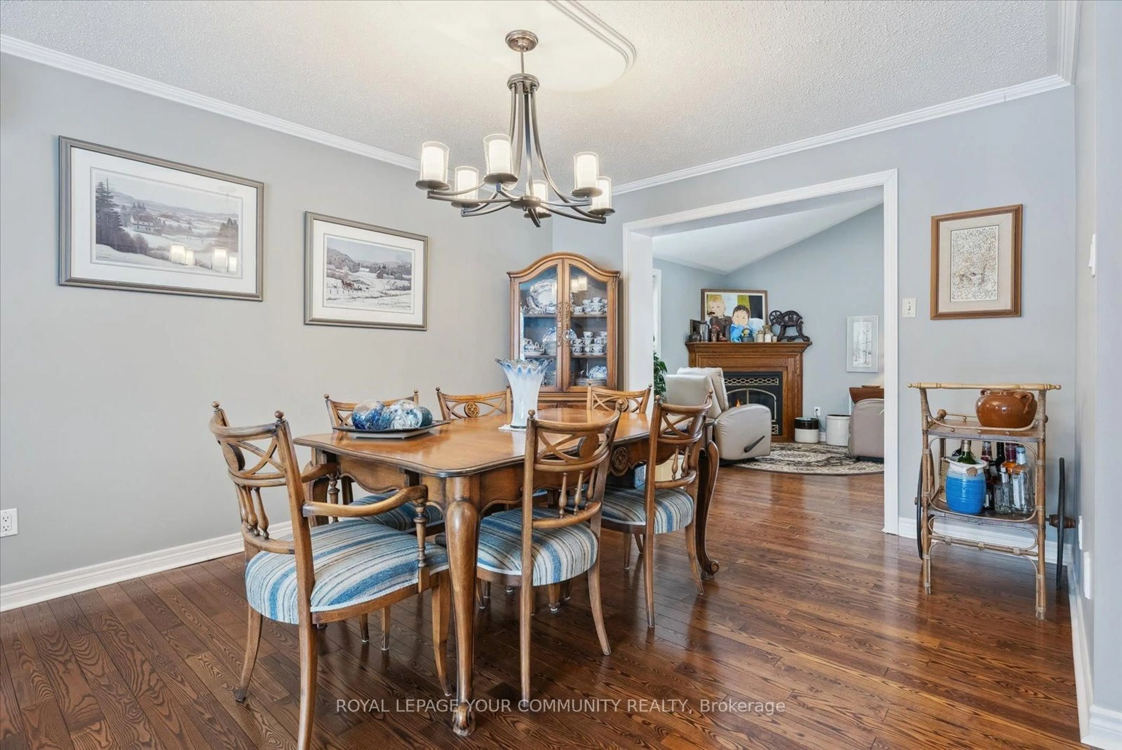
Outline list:
[[[625,562],[631,555],[631,537],[641,536],[643,588],[646,595],[646,624],[654,628],[654,538],[679,529],[686,530],[686,551],[698,594],[703,594],[693,537],[693,510],[698,496],[698,454],[705,437],[709,397],[696,406],[681,406],[654,400],[646,479],[642,487],[609,487],[604,494],[603,524],[622,531]],[[669,478],[656,479],[655,467],[665,465]]]

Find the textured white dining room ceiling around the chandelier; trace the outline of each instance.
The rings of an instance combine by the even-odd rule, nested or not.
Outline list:
[[[1045,0],[582,4],[636,60],[598,91],[542,81],[561,184],[578,150],[620,184],[1054,72]],[[506,71],[388,1],[3,0],[0,31],[407,156],[481,166],[507,125]]]

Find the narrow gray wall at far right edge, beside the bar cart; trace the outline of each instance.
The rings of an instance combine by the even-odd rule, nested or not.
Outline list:
[[[1122,711],[1122,503],[1118,457],[1122,455],[1122,3],[1080,7],[1076,68],[1078,165],[1078,460],[1073,472],[1091,554],[1092,596],[1083,602],[1091,650],[1094,707]],[[1097,235],[1097,274],[1087,272],[1087,247]],[[1106,390],[1096,396],[1097,385]],[[1086,575],[1082,567],[1079,575]],[[1080,586],[1082,588],[1082,586]],[[1091,722],[1094,731],[1095,711]]]

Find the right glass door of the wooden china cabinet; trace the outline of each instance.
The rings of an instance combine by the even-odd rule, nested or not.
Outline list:
[[[563,363],[568,385],[608,385],[613,382],[609,377],[614,373],[609,373],[608,367],[614,363],[610,355],[616,346],[609,340],[608,310],[615,300],[608,299],[608,282],[574,260],[565,264],[565,274],[569,329],[572,331],[568,362]]]

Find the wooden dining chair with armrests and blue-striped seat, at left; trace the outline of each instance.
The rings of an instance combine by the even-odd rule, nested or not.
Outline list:
[[[222,448],[233,481],[246,548],[246,600],[249,603],[246,658],[233,696],[246,701],[261,639],[261,619],[297,625],[300,634],[298,750],[311,746],[315,717],[316,625],[339,622],[388,607],[432,589],[432,640],[436,678],[448,684],[448,623],[451,586],[448,554],[425,541],[427,492],[403,487],[379,503],[340,505],[322,502],[316,479],[333,477],[338,467],[321,464],[304,473],[296,463],[292,432],[283,412],[256,427],[230,427],[215,401],[210,430]],[[261,490],[284,487],[292,537],[269,536]],[[314,492],[313,492],[314,491]],[[356,519],[413,503],[415,533]],[[339,523],[313,525],[315,516]]]

